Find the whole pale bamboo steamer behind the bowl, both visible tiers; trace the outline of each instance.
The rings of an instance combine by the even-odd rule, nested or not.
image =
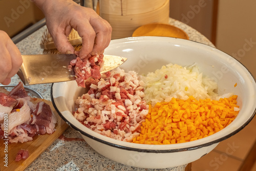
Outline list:
[[[160,1],[160,0],[159,0]],[[124,38],[124,37],[131,37],[133,32],[140,26],[150,24],[150,23],[163,23],[163,24],[168,24],[169,20],[169,0],[164,0],[164,3],[162,6],[160,6],[157,9],[152,10],[154,7],[148,6],[148,2],[150,2],[151,6],[154,5],[159,5],[159,1],[151,1],[151,0],[138,0],[137,4],[140,4],[140,6],[133,7],[133,11],[128,11],[128,7],[132,6],[130,5],[130,0],[126,0],[126,6],[125,6],[125,15],[122,15],[122,13],[119,12],[119,14],[116,11],[116,8],[118,6],[116,5],[115,8],[111,7],[111,2],[109,2],[109,9],[113,8],[115,9],[114,12],[109,12],[109,13],[103,13],[106,12],[106,10],[102,10],[101,6],[99,5],[100,8],[100,16],[107,20],[110,25],[112,26],[112,39],[117,39],[117,38]],[[161,0],[162,1],[162,0]],[[160,1],[160,2],[161,2]],[[103,1],[105,2],[105,1]],[[121,1],[123,2],[123,1]],[[136,0],[131,1],[131,2],[136,2]],[[143,3],[142,3],[143,2]],[[101,3],[101,1],[100,1]],[[123,4],[123,3],[122,3]],[[129,4],[129,5],[128,5]],[[142,12],[144,13],[137,13],[139,11],[139,8]],[[122,11],[123,8],[119,5],[119,11]],[[127,15],[129,14],[129,15]]]

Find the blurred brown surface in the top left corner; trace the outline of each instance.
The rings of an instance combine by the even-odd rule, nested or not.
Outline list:
[[[0,7],[0,30],[10,37],[44,18],[30,0],[2,0]]]

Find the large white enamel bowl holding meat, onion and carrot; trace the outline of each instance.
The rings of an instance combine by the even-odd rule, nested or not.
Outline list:
[[[178,38],[131,37],[112,40],[104,53],[128,58],[121,68],[139,74],[153,72],[167,63],[186,66],[196,62],[204,75],[218,82],[219,94],[232,92],[238,95],[241,108],[231,124],[209,137],[170,145],[135,144],[105,137],[82,125],[73,117],[72,111],[75,110],[74,101],[85,90],[77,87],[75,81],[53,83],[51,98],[60,117],[79,131],[95,151],[109,159],[142,168],[184,165],[208,154],[220,141],[241,131],[255,114],[255,79],[238,60],[220,50]]]

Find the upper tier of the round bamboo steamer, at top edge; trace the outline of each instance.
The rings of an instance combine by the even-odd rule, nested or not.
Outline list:
[[[99,0],[100,12],[110,15],[135,15],[154,11],[166,0]]]

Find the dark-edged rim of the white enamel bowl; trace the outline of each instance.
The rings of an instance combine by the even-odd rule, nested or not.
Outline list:
[[[136,37],[136,39],[143,39],[144,37],[151,37],[151,38],[154,38],[155,36],[141,36],[141,37]],[[126,37],[126,38],[120,38],[120,39],[114,39],[112,40],[113,41],[120,41],[122,39],[134,39],[135,37]],[[165,37],[166,38],[166,37]],[[168,37],[168,38],[172,38],[172,37]],[[174,38],[174,39],[181,39],[181,38]],[[214,48],[218,51],[221,51],[215,47],[212,47],[212,46],[209,46],[209,45],[206,45],[206,44],[203,44],[201,42],[197,42],[197,41],[194,41],[194,40],[186,40],[186,39],[182,39],[182,41],[193,41],[195,43],[198,43],[198,44],[202,44],[204,46],[208,46],[208,47],[211,47],[211,48]],[[221,51],[223,52],[223,51]],[[225,53],[225,52],[223,52]],[[232,57],[231,55],[225,53],[226,55]],[[232,57],[233,59],[237,60],[236,58]],[[239,62],[250,74],[250,76],[253,78],[254,80],[254,83],[256,84],[256,79],[254,78],[254,76],[251,74],[251,72],[243,65],[243,63],[241,63],[239,60],[237,60],[237,62]],[[69,125],[71,126],[73,129],[75,129],[76,131],[78,131],[80,134],[90,138],[90,139],[93,139],[95,141],[98,141],[100,143],[103,143],[103,144],[106,144],[106,145],[109,145],[109,146],[112,146],[112,147],[117,147],[117,148],[120,148],[120,149],[124,149],[126,151],[135,151],[135,152],[142,152],[142,153],[175,153],[175,152],[183,152],[183,151],[191,151],[191,150],[194,150],[194,149],[198,149],[198,148],[202,148],[202,147],[206,147],[206,146],[210,146],[210,145],[213,145],[213,144],[216,144],[216,143],[219,143],[235,134],[237,134],[238,132],[240,132],[241,130],[244,129],[244,127],[246,125],[248,125],[250,123],[250,121],[253,119],[253,117],[255,116],[256,114],[256,108],[254,109],[253,111],[253,114],[250,116],[250,118],[243,124],[241,125],[240,127],[238,127],[236,130],[234,130],[233,132],[230,132],[229,134],[221,137],[221,138],[218,138],[218,139],[215,139],[215,140],[212,140],[212,141],[209,141],[209,142],[206,142],[206,143],[201,143],[199,145],[194,145],[194,146],[188,146],[188,147],[183,147],[183,148],[172,148],[172,149],[143,149],[143,148],[136,148],[136,147],[130,147],[130,146],[124,146],[124,145],[119,145],[119,144],[115,144],[115,143],[112,143],[112,142],[108,142],[108,141],[105,141],[105,140],[102,140],[100,138],[97,138],[97,137],[94,137],[92,135],[90,135],[89,133],[86,133],[82,130],[80,130],[77,126],[75,126],[74,124],[70,123],[68,121],[68,119],[66,119],[62,114],[61,112],[58,110],[57,106],[56,106],[56,103],[54,101],[54,97],[53,97],[53,86],[54,86],[54,83],[52,83],[51,85],[51,91],[50,91],[50,94],[51,94],[51,100],[52,100],[52,103],[53,103],[53,106],[55,108],[55,110],[57,111],[58,115]],[[96,133],[96,132],[95,132]],[[97,133],[98,134],[98,133]],[[100,135],[100,134],[99,134]],[[103,136],[103,135],[102,135]],[[107,138],[110,138],[110,137],[107,137]],[[110,138],[112,139],[112,138]],[[116,140],[116,141],[119,141],[119,140]],[[175,144],[168,144],[168,145],[175,145]],[[159,145],[156,145],[156,146],[159,146]],[[160,146],[163,146],[163,145],[160,145]]]

